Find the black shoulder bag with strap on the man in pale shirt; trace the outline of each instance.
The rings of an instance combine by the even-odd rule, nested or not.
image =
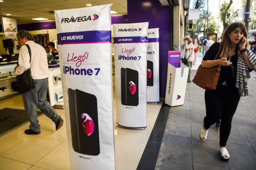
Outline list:
[[[28,44],[24,44],[28,48],[28,53],[29,53],[29,62],[31,60],[31,50]],[[16,76],[17,79],[17,91],[20,93],[26,93],[33,88],[35,88],[35,84],[33,82],[32,76],[31,76],[31,71],[30,68],[24,71],[22,74]]]

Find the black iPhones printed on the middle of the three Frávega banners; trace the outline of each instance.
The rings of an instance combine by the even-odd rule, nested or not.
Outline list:
[[[121,103],[127,106],[139,104],[139,74],[130,68],[121,68]]]

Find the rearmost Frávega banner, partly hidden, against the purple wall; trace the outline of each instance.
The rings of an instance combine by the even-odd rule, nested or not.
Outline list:
[[[159,28],[148,29],[147,102],[159,102]]]

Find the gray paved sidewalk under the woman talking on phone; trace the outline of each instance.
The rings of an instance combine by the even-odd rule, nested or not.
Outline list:
[[[201,64],[198,53],[192,76]],[[171,107],[155,169],[255,170],[256,169],[256,72],[251,72],[249,94],[242,97],[227,141],[230,160],[219,154],[219,128],[212,125],[205,142],[199,132],[205,117],[204,90],[187,83],[184,105]],[[228,102],[228,101],[227,101]]]

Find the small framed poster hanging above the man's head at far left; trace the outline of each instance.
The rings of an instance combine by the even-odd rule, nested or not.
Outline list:
[[[4,39],[17,40],[17,22],[15,18],[2,17]]]

